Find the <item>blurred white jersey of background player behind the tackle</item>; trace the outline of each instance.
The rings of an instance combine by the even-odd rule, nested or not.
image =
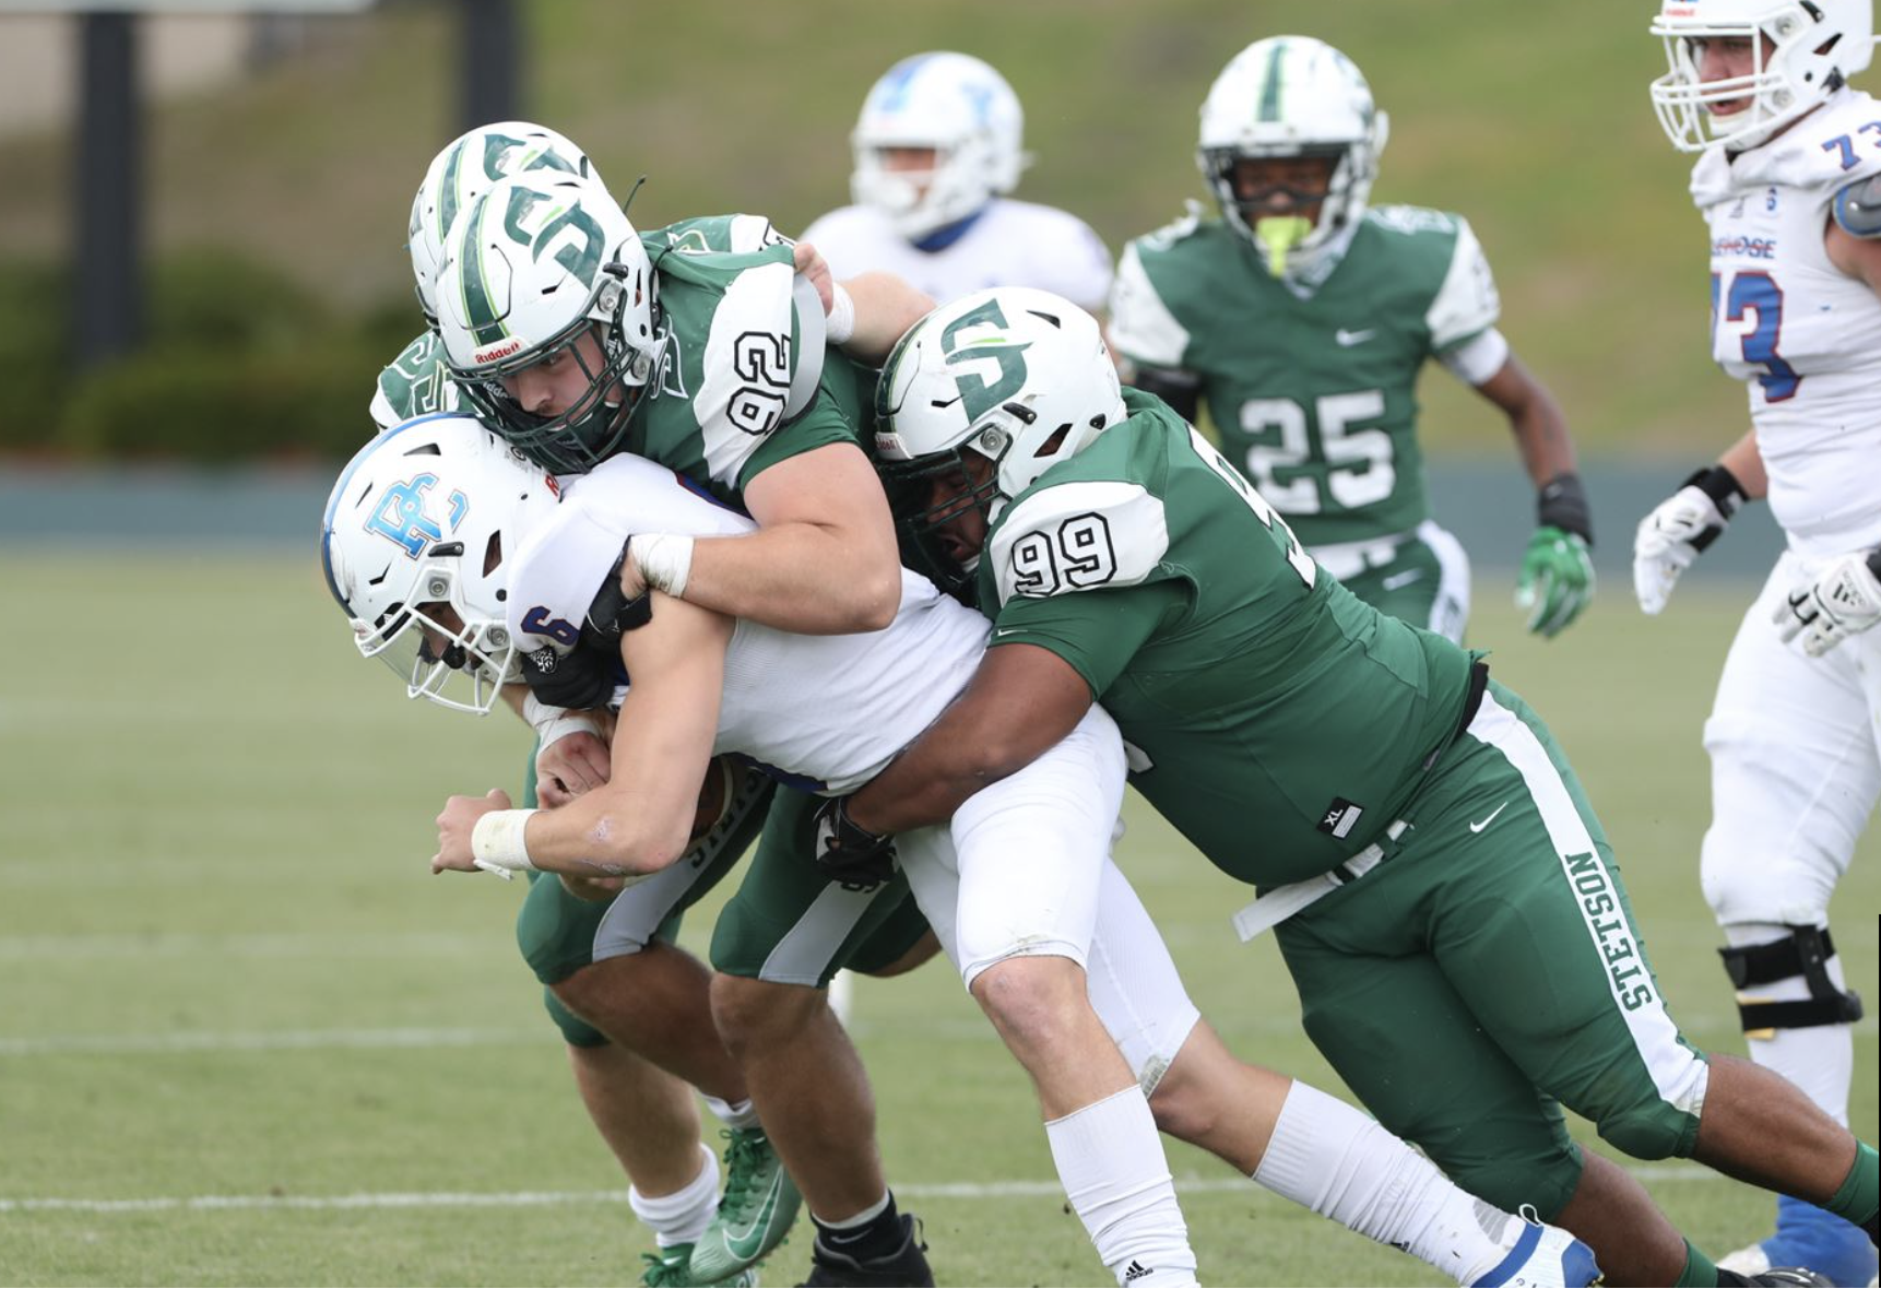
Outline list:
[[[920,250],[873,205],[845,205],[803,230],[841,278],[884,271],[948,303],[988,286],[1035,286],[1097,312],[1110,295],[1110,250],[1076,215],[995,198],[959,241]]]

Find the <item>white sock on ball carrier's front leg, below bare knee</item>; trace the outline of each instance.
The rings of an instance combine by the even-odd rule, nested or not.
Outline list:
[[[1142,1088],[1046,1123],[1072,1210],[1119,1285],[1193,1285],[1194,1251]]]

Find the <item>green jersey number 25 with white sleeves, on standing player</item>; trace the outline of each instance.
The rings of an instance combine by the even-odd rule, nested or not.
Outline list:
[[[1191,211],[1125,248],[1110,339],[1198,384],[1223,452],[1307,546],[1409,533],[1430,517],[1418,371],[1501,309],[1482,247],[1460,215],[1373,207],[1302,290]]]

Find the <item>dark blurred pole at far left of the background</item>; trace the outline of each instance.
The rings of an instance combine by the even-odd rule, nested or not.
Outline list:
[[[120,358],[143,331],[143,137],[137,130],[137,19],[79,19],[77,218],[71,222],[79,367]]]

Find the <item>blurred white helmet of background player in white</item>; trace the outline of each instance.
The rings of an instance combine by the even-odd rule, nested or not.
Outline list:
[[[1031,162],[1023,134],[1018,94],[988,64],[957,53],[903,58],[861,103],[850,135],[850,194],[920,241],[1020,184]],[[882,149],[893,147],[935,149],[935,167],[925,175],[888,169]]]

